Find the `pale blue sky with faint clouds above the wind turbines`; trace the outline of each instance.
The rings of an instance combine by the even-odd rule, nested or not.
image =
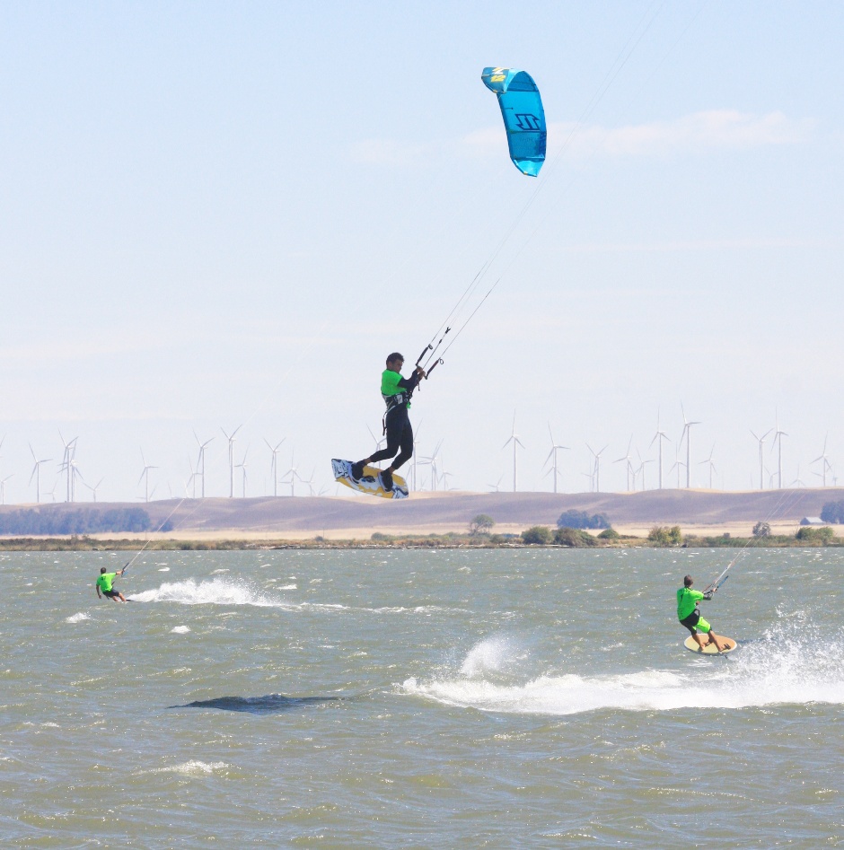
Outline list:
[[[817,482],[827,432],[844,452],[842,42],[839,3],[0,3],[6,501],[59,429],[101,500],[142,495],[142,447],[182,495],[194,429],[226,494],[242,422],[249,495],[264,437],[327,486],[380,428],[384,355],[416,358],[538,186],[414,401],[421,454],[510,487],[515,411],[520,489],[550,487],[550,422],[579,491],[587,441],[655,457],[682,402],[717,486],[751,485],[775,412],[784,478]],[[551,158],[570,136],[539,180],[489,65],[534,76]]]

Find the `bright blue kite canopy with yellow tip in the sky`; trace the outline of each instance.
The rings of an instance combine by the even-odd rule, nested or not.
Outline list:
[[[514,166],[529,177],[545,162],[545,110],[531,74],[515,68],[484,68],[480,79],[496,92]]]

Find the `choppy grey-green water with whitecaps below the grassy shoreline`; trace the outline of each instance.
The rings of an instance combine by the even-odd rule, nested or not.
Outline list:
[[[840,550],[0,556],[0,845],[844,846]],[[706,603],[705,603],[706,604]]]

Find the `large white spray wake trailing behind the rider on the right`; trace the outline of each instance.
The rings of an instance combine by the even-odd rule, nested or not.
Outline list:
[[[600,710],[674,711],[768,705],[844,705],[840,637],[767,635],[729,657],[690,658],[683,670],[582,676],[546,673],[516,682],[498,675],[514,661],[506,641],[472,647],[459,670],[407,679],[399,689],[444,705],[506,714],[582,714]],[[497,680],[493,680],[497,679]]]

